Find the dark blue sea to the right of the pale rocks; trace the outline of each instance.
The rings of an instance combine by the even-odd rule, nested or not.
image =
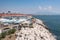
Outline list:
[[[34,15],[44,22],[50,31],[56,35],[57,40],[60,40],[60,15]]]

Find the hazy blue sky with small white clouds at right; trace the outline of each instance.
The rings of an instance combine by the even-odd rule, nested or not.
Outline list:
[[[8,11],[27,14],[37,12],[60,14],[60,0],[0,0],[0,13]]]

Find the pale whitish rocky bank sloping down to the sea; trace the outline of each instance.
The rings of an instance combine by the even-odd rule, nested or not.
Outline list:
[[[56,40],[41,20],[35,19],[32,26],[32,28],[21,27],[21,30],[16,33],[16,40]]]

